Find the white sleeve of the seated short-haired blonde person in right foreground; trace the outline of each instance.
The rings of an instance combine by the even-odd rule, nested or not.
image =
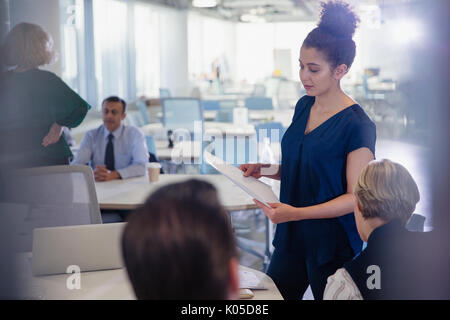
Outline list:
[[[363,300],[363,297],[347,270],[341,268],[335,274],[328,277],[323,299]]]

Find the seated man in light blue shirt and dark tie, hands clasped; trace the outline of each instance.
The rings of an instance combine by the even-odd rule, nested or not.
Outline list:
[[[86,133],[71,164],[90,164],[96,181],[145,175],[148,151],[138,128],[126,126],[126,103],[118,97],[102,102],[103,125]]]

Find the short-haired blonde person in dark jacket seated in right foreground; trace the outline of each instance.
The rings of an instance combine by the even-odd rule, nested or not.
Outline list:
[[[409,172],[390,160],[372,161],[354,187],[358,233],[367,247],[328,277],[326,300],[430,299],[430,233],[405,225],[419,201]]]

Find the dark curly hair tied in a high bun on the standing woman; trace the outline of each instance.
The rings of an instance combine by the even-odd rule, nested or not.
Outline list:
[[[322,2],[321,6],[320,22],[303,41],[303,46],[321,52],[332,69],[345,64],[348,70],[355,59],[356,45],[352,37],[359,18],[342,1]]]

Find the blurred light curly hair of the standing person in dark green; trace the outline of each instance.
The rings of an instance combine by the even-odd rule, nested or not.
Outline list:
[[[20,23],[8,33],[2,55],[7,66],[25,69],[50,64],[56,59],[52,37],[33,23]]]

